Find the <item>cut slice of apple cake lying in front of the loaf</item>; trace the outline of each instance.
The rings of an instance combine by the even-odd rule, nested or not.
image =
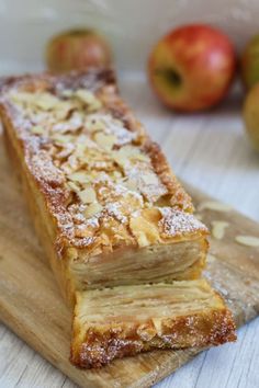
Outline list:
[[[235,339],[230,312],[204,279],[95,289],[77,294],[71,362],[100,367],[151,349]]]

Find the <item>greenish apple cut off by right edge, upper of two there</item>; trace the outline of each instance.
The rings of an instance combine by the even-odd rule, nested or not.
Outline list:
[[[241,78],[247,89],[259,82],[259,35],[254,36],[245,48]]]

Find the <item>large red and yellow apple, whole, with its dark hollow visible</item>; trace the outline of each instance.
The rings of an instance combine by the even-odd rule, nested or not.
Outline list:
[[[158,42],[148,62],[149,78],[160,100],[185,112],[217,104],[228,91],[235,68],[228,37],[200,24],[171,31]]]

